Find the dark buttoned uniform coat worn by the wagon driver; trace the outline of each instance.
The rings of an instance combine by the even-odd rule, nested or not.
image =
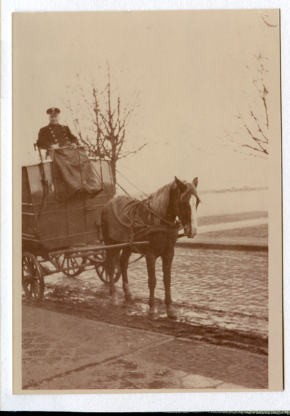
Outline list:
[[[63,147],[72,143],[78,144],[78,139],[67,125],[49,123],[39,130],[37,146],[41,149],[51,148],[53,144]]]

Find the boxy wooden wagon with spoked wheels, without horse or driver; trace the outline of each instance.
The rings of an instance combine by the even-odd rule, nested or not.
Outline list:
[[[69,154],[66,171],[57,171],[50,160],[22,167],[22,287],[26,297],[42,300],[44,277],[63,272],[76,277],[95,268],[98,277],[107,283],[102,243],[101,211],[114,194],[111,167],[103,159],[89,158],[89,173],[84,175],[89,159],[80,146],[76,150],[54,150],[63,164]],[[70,153],[77,157],[74,172]],[[57,158],[55,158],[57,159]],[[73,183],[65,183],[63,175],[71,175]],[[114,280],[120,278],[116,266]]]

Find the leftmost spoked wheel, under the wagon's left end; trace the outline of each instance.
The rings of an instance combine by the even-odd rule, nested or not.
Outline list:
[[[30,253],[22,255],[22,287],[29,299],[39,302],[44,297],[44,274],[37,258]]]

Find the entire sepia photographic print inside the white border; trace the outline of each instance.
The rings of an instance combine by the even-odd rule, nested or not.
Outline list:
[[[280,10],[12,13],[12,130],[14,395],[283,390]]]

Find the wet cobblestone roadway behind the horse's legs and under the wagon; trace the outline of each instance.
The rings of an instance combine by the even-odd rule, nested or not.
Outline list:
[[[132,260],[136,257],[132,256]],[[163,300],[161,261],[156,263],[156,298]],[[46,297],[65,289],[71,302],[93,300],[108,291],[89,270],[77,278],[62,273],[46,277]],[[147,314],[147,270],[145,259],[129,266],[129,282],[138,302],[128,313]],[[123,298],[121,279],[117,284]],[[172,298],[179,320],[268,335],[268,255],[263,252],[200,250],[176,247],[172,265]],[[165,315],[159,306],[161,316]]]

